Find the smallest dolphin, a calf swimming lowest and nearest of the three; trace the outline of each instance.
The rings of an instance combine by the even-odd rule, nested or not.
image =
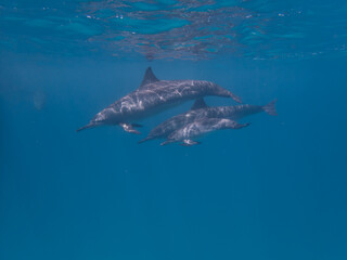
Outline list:
[[[192,146],[201,143],[193,141],[192,139],[201,136],[205,133],[222,129],[240,129],[247,126],[249,126],[248,122],[237,123],[226,118],[201,118],[170,133],[167,140],[160,145],[182,141],[181,145]]]

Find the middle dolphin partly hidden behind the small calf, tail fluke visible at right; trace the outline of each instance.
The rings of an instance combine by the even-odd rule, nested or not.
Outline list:
[[[194,105],[190,110],[174,116],[168,120],[162,122],[153,130],[151,130],[149,135],[145,139],[139,141],[139,143],[143,143],[145,141],[154,139],[166,139],[174,131],[201,118],[229,118],[231,120],[239,120],[245,116],[257,114],[260,112],[266,112],[269,115],[275,116],[275,102],[277,100],[270,102],[265,106],[245,104],[235,106],[209,107],[206,105],[204,99],[200,98],[195,101]]]

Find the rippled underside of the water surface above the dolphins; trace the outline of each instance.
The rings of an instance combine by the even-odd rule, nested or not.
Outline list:
[[[70,1],[0,6],[2,50],[153,58],[345,55],[347,4],[271,0]]]

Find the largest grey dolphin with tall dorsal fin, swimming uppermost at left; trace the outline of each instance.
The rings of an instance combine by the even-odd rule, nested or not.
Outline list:
[[[214,82],[204,80],[158,80],[149,67],[139,89],[98,113],[87,126],[77,131],[97,126],[118,125],[127,132],[140,133],[134,127],[141,125],[133,123],[134,121],[172,105],[206,95],[232,98],[241,103],[240,98]]]

